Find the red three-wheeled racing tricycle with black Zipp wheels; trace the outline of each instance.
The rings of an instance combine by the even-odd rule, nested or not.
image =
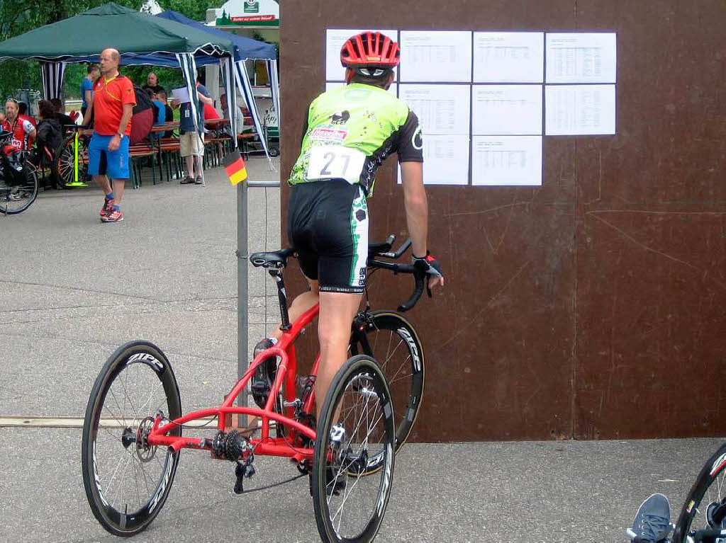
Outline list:
[[[425,274],[396,260],[407,241],[370,246],[369,270],[412,274],[415,291],[399,306],[414,307]],[[111,534],[131,536],[149,526],[168,497],[181,449],[201,449],[235,464],[234,492],[255,473],[255,455],[287,457],[309,476],[319,535],[324,542],[370,542],[378,534],[391,493],[395,451],[420,408],[424,357],[413,326],[397,312],[371,312],[366,303],[351,332],[351,358],[336,373],[315,420],[314,383],[298,376],[295,340],[318,315],[316,305],[290,323],[282,270],[292,249],[250,256],[277,283],[282,338],[260,352],[220,407],[181,414],[179,387],[166,355],[132,341],[107,360],[91,391],[83,424],[83,484],[91,510]],[[277,357],[264,408],[235,406],[258,366]],[[232,426],[232,415],[256,420]],[[182,436],[192,421],[216,421],[209,437]],[[274,423],[274,436],[272,424]],[[198,424],[198,423],[197,423]],[[295,477],[297,478],[297,476]],[[290,479],[293,480],[293,479]],[[287,482],[287,481],[285,481]],[[255,490],[255,489],[253,489]]]

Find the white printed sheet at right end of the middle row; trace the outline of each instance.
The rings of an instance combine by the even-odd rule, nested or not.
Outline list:
[[[614,134],[615,86],[547,86],[544,111],[547,136]]]

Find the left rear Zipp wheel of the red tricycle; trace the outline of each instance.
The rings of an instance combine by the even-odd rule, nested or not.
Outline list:
[[[132,341],[99,373],[83,421],[83,486],[94,516],[111,534],[143,531],[168,497],[179,452],[147,444],[157,413],[181,417],[174,372],[158,347]],[[171,435],[181,435],[181,428]]]

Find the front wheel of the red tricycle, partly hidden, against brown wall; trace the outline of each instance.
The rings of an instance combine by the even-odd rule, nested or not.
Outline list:
[[[357,331],[363,326],[365,335],[354,332],[351,355],[374,358],[391,390],[398,452],[411,433],[423,397],[425,365],[421,341],[412,324],[395,312],[359,313],[354,326]]]

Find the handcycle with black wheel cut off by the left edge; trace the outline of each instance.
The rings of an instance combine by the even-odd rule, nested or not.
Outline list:
[[[0,132],[0,213],[15,215],[38,196],[38,170],[27,151],[12,145],[12,132]]]

